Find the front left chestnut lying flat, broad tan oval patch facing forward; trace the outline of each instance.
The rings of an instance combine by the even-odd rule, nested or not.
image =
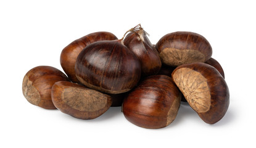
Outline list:
[[[57,109],[80,119],[97,118],[112,104],[112,99],[107,94],[70,81],[55,83],[51,94]]]

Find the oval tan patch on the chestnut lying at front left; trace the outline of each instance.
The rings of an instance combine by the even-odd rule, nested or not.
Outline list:
[[[66,88],[62,100],[70,107],[80,111],[96,112],[107,104],[107,96],[91,89]]]

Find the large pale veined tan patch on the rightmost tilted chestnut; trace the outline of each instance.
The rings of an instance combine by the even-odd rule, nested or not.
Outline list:
[[[210,109],[210,89],[206,78],[190,68],[180,68],[173,74],[184,97],[196,112],[207,112]]]

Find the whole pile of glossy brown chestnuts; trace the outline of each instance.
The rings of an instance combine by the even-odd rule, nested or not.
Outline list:
[[[67,75],[50,66],[32,68],[23,78],[23,95],[33,105],[81,119],[122,106],[125,118],[143,128],[170,125],[181,101],[205,123],[221,120],[229,90],[207,39],[177,31],[153,45],[147,35],[137,25],[122,39],[103,31],[76,39],[60,54]]]

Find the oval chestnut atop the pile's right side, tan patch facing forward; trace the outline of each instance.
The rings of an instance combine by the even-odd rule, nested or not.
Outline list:
[[[178,66],[205,62],[212,56],[212,47],[204,36],[188,31],[168,33],[159,39],[155,48],[163,64]]]

